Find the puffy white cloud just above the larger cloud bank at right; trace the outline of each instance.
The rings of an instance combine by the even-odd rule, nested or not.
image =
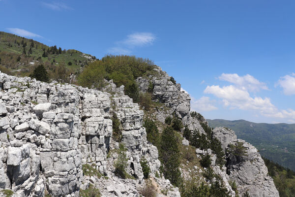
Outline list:
[[[260,82],[249,74],[239,76],[236,73],[222,73],[221,76],[219,76],[218,78],[220,80],[231,82],[241,89],[246,89],[253,92],[258,92],[260,89],[268,90],[265,83]]]

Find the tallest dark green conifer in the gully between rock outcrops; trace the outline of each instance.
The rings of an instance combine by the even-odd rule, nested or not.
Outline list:
[[[181,172],[179,170],[179,149],[177,137],[172,127],[167,126],[162,132],[160,142],[160,161],[163,164],[165,178],[175,186],[181,184]]]

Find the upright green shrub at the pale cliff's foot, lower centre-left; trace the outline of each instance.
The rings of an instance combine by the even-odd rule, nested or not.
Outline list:
[[[125,170],[128,165],[127,162],[128,158],[126,157],[126,148],[123,144],[119,144],[118,159],[114,163],[116,176],[122,179],[126,179],[128,177],[128,174]]]

